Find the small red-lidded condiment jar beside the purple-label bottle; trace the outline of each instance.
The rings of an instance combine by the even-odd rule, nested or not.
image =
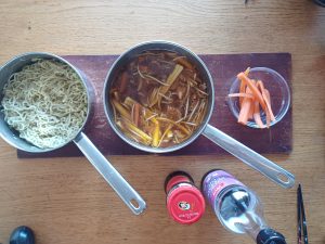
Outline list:
[[[170,174],[165,181],[165,191],[168,213],[177,222],[191,224],[200,219],[206,207],[205,198],[188,174]]]

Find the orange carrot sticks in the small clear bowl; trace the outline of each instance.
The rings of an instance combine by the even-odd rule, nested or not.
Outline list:
[[[248,74],[249,68],[237,75],[237,78],[240,80],[239,92],[229,94],[229,98],[239,98],[239,124],[247,125],[249,119],[253,119],[259,128],[269,128],[271,121],[275,120],[271,107],[270,92],[264,88],[261,80],[250,79]],[[266,125],[261,119],[260,107],[265,113]]]

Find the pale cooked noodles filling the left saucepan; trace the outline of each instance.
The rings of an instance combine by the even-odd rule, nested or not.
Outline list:
[[[3,89],[4,120],[41,149],[76,137],[87,116],[86,89],[68,65],[36,60],[13,74]]]

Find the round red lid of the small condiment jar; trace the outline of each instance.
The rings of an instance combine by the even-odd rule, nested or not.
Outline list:
[[[188,183],[180,183],[171,190],[167,197],[169,215],[183,224],[191,224],[200,219],[205,213],[206,203],[200,191]]]

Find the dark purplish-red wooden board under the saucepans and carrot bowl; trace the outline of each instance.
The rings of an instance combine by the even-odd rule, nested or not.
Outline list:
[[[291,55],[289,53],[204,54],[199,55],[214,80],[214,110],[210,125],[219,128],[259,153],[289,153],[292,149],[291,106],[285,117],[271,129],[252,129],[236,123],[226,103],[230,86],[236,74],[247,67],[270,67],[278,72],[291,89]],[[104,113],[103,86],[108,68],[117,55],[67,55],[63,56],[79,68],[89,80],[95,99],[84,133],[105,155],[140,155],[145,152],[123,142],[109,128]],[[272,92],[272,91],[271,91]],[[192,144],[168,155],[207,155],[224,153],[221,147],[200,136]],[[165,154],[166,155],[166,154]],[[82,156],[74,143],[49,153],[31,154],[17,151],[21,158]]]

